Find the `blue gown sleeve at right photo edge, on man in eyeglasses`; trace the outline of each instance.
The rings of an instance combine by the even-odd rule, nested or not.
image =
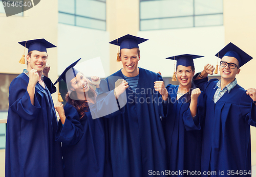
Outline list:
[[[239,108],[245,121],[256,127],[256,105],[252,103],[252,99],[246,94],[246,91],[241,96]]]

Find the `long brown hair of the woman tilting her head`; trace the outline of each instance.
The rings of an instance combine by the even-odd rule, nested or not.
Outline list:
[[[75,91],[66,94],[66,101],[77,109],[78,114],[81,115],[80,118],[82,118],[86,112],[90,111],[89,105],[95,104],[96,102],[95,97],[97,96],[97,92],[90,84],[89,87],[90,90],[87,93],[84,93],[85,100],[79,100]]]

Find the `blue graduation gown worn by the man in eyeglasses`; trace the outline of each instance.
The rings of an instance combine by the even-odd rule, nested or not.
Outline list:
[[[208,78],[194,81],[207,97],[201,170],[216,171],[217,176],[220,176],[220,170],[224,170],[225,176],[231,170],[235,173],[246,170],[247,175],[243,176],[250,176],[247,173],[249,170],[251,172],[250,125],[256,125],[256,106],[239,85],[224,93],[214,104],[212,98],[219,80],[207,81]]]

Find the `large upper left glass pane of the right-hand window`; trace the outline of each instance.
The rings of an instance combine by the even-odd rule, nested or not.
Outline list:
[[[140,3],[140,18],[162,18],[193,15],[193,0],[144,1]]]

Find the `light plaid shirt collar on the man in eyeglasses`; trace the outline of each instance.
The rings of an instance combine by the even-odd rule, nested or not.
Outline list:
[[[237,85],[237,79],[234,79],[234,81],[232,81],[231,83],[229,83],[228,85],[226,85],[222,90],[221,90],[221,80],[216,84],[215,88],[217,88],[215,94],[214,94],[214,103],[216,104],[216,102],[218,102],[218,100],[224,95],[224,93],[226,93],[228,91],[228,93],[230,92],[230,90],[232,90],[232,88],[234,88],[234,86]],[[215,89],[214,88],[214,89]]]

